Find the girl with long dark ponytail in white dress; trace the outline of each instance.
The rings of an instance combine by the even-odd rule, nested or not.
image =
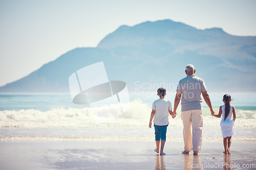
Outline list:
[[[221,117],[221,132],[223,136],[223,144],[224,144],[224,154],[230,155],[230,145],[231,145],[231,137],[234,134],[234,120],[236,120],[236,110],[234,109],[234,106],[230,105],[231,102],[231,96],[229,94],[225,94],[223,96],[223,102],[225,105],[220,106],[219,114],[211,114],[212,116]],[[232,117],[233,115],[233,117]]]

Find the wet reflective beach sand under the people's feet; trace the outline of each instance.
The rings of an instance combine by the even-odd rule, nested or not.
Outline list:
[[[222,141],[203,141],[193,156],[181,154],[183,141],[166,141],[159,156],[148,140],[1,141],[0,169],[255,169],[255,148],[233,141],[224,156]]]

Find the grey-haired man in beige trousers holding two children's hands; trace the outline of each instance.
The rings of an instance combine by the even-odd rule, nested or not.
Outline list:
[[[184,151],[182,154],[189,154],[194,151],[194,155],[198,155],[201,151],[203,138],[203,111],[202,98],[210,108],[210,112],[214,113],[212,109],[209,95],[207,93],[206,85],[203,79],[196,77],[196,70],[194,66],[188,64],[186,66],[186,77],[181,79],[177,86],[177,93],[174,101],[174,113],[176,114],[177,107],[181,98],[181,119],[183,122],[183,139]],[[191,126],[193,128],[193,135],[191,135]]]

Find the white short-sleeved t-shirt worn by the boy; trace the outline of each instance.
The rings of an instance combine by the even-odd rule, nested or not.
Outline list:
[[[152,105],[152,110],[156,110],[154,116],[154,124],[158,126],[165,126],[169,124],[169,111],[172,110],[172,104],[166,99],[158,99]]]

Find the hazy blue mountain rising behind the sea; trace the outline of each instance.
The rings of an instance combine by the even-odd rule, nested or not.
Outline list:
[[[97,47],[75,48],[0,92],[69,92],[69,76],[103,61],[109,80],[129,91],[175,90],[193,64],[210,91],[256,91],[256,37],[233,36],[221,28],[199,30],[169,19],[121,26]]]

